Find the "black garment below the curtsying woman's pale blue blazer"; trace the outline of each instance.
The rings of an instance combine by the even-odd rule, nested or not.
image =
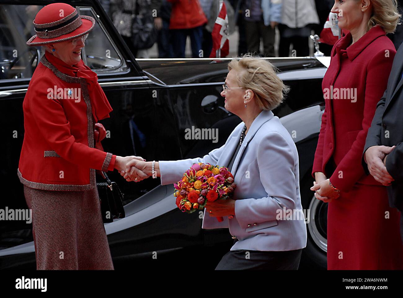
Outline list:
[[[302,248],[281,252],[230,250],[222,257],[216,270],[297,270],[301,252]]]

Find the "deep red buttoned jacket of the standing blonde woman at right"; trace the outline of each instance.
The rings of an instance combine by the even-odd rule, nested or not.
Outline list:
[[[396,54],[395,46],[378,25],[349,46],[351,42],[351,33],[348,33],[334,44],[322,90],[325,97],[331,93],[326,92],[330,86],[334,92],[340,88],[356,88],[356,99],[351,99],[351,96],[350,99],[325,97],[326,106],[312,170],[313,176],[315,172],[324,172],[341,191],[349,191],[357,182],[381,185],[364,173],[361,157],[376,104],[386,89]],[[325,166],[330,157],[337,168],[329,177]]]

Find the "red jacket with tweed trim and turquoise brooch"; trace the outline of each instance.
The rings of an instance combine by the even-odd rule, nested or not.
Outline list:
[[[54,86],[81,88],[81,100],[49,98],[48,88]],[[95,124],[83,78],[61,73],[42,57],[29,82],[23,111],[18,176],[24,185],[83,191],[96,187],[95,170],[114,169],[116,155],[94,148]]]

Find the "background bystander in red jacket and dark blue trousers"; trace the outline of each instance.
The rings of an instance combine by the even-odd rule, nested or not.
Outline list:
[[[168,0],[172,2],[169,29],[172,33],[174,58],[184,58],[186,38],[190,37],[192,57],[208,57],[202,53],[203,25],[207,23],[199,0]]]

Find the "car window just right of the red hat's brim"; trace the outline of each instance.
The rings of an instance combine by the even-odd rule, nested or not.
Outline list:
[[[88,15],[96,21],[95,27],[89,33],[87,40],[85,40],[85,47],[81,50],[84,63],[94,71],[98,70],[96,72],[125,71],[125,60],[118,54],[118,49],[108,38],[98,16],[91,8],[80,7],[79,12],[80,15]]]

